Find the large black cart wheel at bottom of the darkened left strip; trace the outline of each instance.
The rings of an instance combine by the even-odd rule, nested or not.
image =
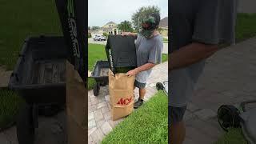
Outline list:
[[[16,131],[19,144],[34,143],[34,123],[32,106],[25,104],[18,112]]]

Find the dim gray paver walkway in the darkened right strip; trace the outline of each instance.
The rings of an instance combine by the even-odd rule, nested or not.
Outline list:
[[[256,38],[251,38],[207,60],[186,111],[185,144],[215,142],[224,133],[218,125],[218,107],[256,99],[255,55]]]

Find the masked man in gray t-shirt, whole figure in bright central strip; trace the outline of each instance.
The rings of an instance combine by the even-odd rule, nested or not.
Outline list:
[[[143,98],[146,94],[146,81],[149,78],[152,68],[162,61],[162,36],[158,33],[160,14],[148,14],[142,19],[142,30],[139,34],[123,32],[122,35],[131,35],[137,38],[136,54],[137,68],[130,70],[126,75],[135,77],[134,88],[139,89],[138,101],[134,103],[137,109],[143,104]]]

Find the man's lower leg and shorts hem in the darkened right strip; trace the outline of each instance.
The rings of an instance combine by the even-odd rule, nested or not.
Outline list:
[[[186,111],[184,107],[169,106],[169,142],[170,144],[182,144],[186,136],[186,127],[183,122],[183,116]]]

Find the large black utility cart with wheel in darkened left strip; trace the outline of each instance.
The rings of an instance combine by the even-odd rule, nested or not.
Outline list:
[[[20,108],[16,121],[20,144],[34,142],[39,110],[48,107],[48,113],[44,114],[52,115],[53,107],[65,105],[66,55],[62,37],[26,39],[9,84],[10,89],[17,90],[26,101]]]

